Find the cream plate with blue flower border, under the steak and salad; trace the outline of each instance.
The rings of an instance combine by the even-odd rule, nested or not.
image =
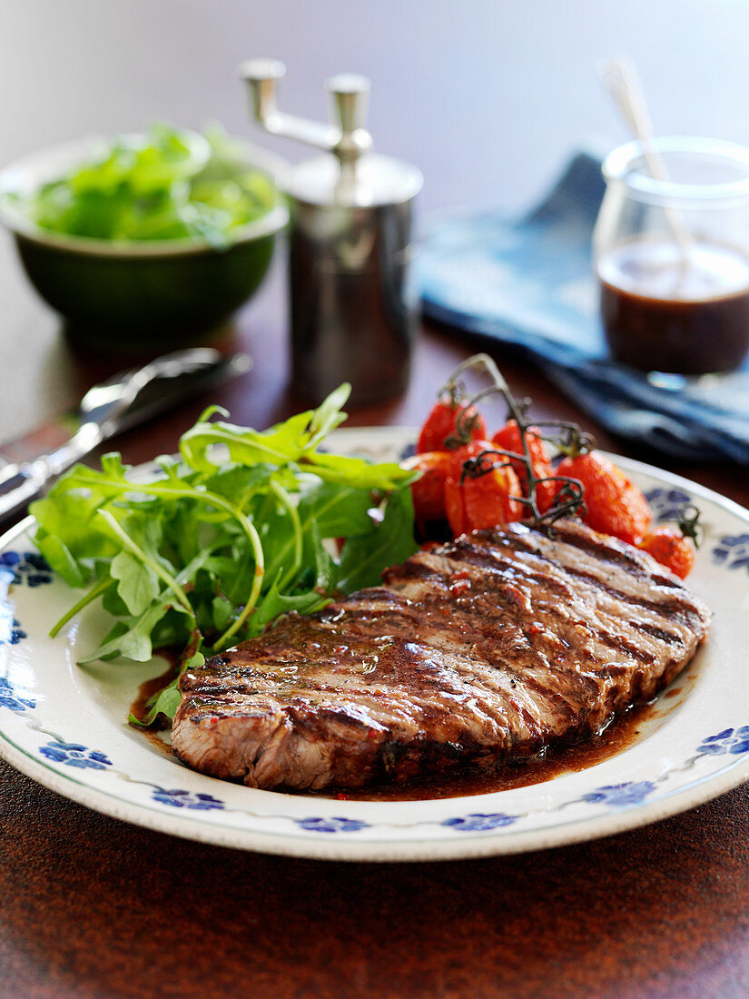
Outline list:
[[[414,432],[337,432],[336,447],[377,460]],[[0,752],[39,783],[137,825],[224,846],[345,860],[473,857],[556,846],[644,825],[749,778],[749,511],[617,459],[656,515],[694,500],[705,539],[690,583],[713,608],[710,638],[617,755],[544,783],[431,801],[348,801],[260,791],[187,769],[125,719],[161,660],[76,660],[107,627],[91,610],[51,639],[73,593],[34,554],[25,521],[0,543]],[[679,692],[674,695],[673,690]],[[666,696],[671,694],[671,696]]]

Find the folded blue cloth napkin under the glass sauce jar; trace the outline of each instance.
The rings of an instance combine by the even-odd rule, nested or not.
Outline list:
[[[749,361],[675,390],[608,357],[590,249],[603,188],[600,163],[581,153],[520,219],[439,223],[415,265],[425,315],[523,348],[613,434],[673,458],[749,465]]]

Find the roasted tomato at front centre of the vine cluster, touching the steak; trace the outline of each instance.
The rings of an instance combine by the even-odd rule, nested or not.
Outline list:
[[[452,455],[444,483],[444,508],[455,536],[522,518],[522,503],[516,499],[521,496],[520,483],[510,465],[497,464],[500,456],[487,455],[481,465],[489,471],[479,475],[478,469],[463,464],[491,450],[488,441],[472,441]]]

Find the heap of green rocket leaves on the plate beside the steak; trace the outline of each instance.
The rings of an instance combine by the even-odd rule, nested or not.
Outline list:
[[[409,483],[417,474],[321,450],[346,420],[350,387],[268,431],[213,407],[183,435],[179,459],[134,479],[119,454],[79,465],[32,504],[36,543],[85,594],[52,629],[101,600],[116,618],[82,660],[147,661],[178,645],[181,670],[259,634],[280,614],[310,613],[334,593],[372,585],[414,549]],[[337,554],[332,539],[345,538]],[[152,698],[171,718],[176,680]],[[131,716],[131,721],[138,721]]]

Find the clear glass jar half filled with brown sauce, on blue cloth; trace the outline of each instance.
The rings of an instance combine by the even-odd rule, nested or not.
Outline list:
[[[627,143],[603,164],[593,259],[611,355],[642,371],[733,370],[749,351],[749,149],[661,138],[650,150],[648,163]]]

